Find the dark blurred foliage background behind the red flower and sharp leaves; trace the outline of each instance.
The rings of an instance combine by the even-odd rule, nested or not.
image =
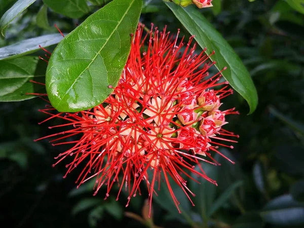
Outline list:
[[[16,2],[0,0],[3,15]],[[97,10],[105,2],[90,1]],[[108,2],[108,1],[106,1]],[[189,34],[160,0],[144,1],[141,22],[171,32]],[[37,109],[41,99],[0,103],[0,219],[10,227],[303,227],[304,225],[304,15],[288,1],[214,0],[216,9],[202,9],[204,16],[240,55],[254,80],[259,95],[256,111],[247,116],[248,106],[237,93],[224,99],[223,106],[235,106],[241,113],[230,116],[229,129],[239,134],[233,150],[222,150],[235,165],[218,158],[221,166],[202,164],[218,186],[191,182],[196,194],[186,198],[179,187],[179,214],[165,184],[154,197],[153,218],[145,209],[145,186],[126,208],[127,196],[114,188],[104,201],[106,189],[93,197],[94,180],[78,189],[74,171],[63,179],[62,164],[52,168],[53,158],[65,146],[53,147],[47,140],[33,139],[52,134],[41,127],[46,116]],[[294,1],[295,2],[295,1]],[[37,17],[40,19],[37,20]],[[84,17],[85,18],[85,17]],[[70,32],[84,18],[70,19],[36,1],[7,29],[0,47],[44,34],[55,33],[57,24]],[[54,47],[51,47],[52,50]],[[40,53],[32,55],[37,56]],[[212,69],[215,72],[215,69]],[[195,177],[197,178],[197,177]],[[172,185],[174,188],[174,184]]]

